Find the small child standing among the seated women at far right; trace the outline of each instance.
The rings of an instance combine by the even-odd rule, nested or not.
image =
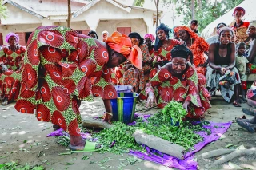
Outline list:
[[[242,100],[246,101],[246,81],[247,81],[247,75],[246,75],[246,64],[249,63],[247,58],[245,57],[246,52],[246,43],[239,42],[237,45],[237,55],[235,57],[235,66],[238,69],[239,75],[241,77],[241,92],[242,92]]]

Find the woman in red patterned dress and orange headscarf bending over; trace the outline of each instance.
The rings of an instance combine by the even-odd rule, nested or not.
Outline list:
[[[111,122],[110,99],[117,97],[110,69],[128,58],[141,68],[130,38],[114,32],[106,42],[78,34],[65,26],[41,26],[30,35],[22,68],[21,90],[15,109],[36,113],[38,121],[51,121],[70,134],[70,149],[94,151],[95,143],[82,140],[78,124],[81,101],[104,102],[105,121]],[[140,65],[139,65],[140,64]],[[90,77],[97,78],[94,85]]]

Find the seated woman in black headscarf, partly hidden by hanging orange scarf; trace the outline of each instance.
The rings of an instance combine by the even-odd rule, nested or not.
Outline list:
[[[129,62],[122,68],[123,73],[123,85],[131,85],[134,88],[135,93],[139,93],[145,88],[146,81],[145,75],[150,73],[152,69],[153,58],[150,57],[150,53],[146,44],[143,44],[144,39],[140,34],[132,32],[128,35],[130,37],[132,45],[139,46],[142,50],[142,69],[134,68]]]

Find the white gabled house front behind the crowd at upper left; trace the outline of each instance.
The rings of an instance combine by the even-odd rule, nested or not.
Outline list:
[[[50,14],[49,18],[38,18],[16,6],[6,3],[8,18],[2,19],[0,33],[2,38],[10,32],[32,32],[38,26],[66,26],[66,0],[17,0],[20,4],[37,11],[38,14]],[[84,4],[71,2],[72,11],[80,9]],[[59,13],[59,14],[58,14]],[[62,14],[63,13],[63,14]],[[71,18],[71,26],[74,30],[96,30],[99,39],[103,30],[113,33],[117,27],[130,27],[131,31],[138,32],[142,36],[146,33],[154,33],[153,11],[143,9],[130,9],[126,11],[106,1],[100,1],[90,9],[84,11],[76,18]],[[5,43],[5,42],[4,42]]]

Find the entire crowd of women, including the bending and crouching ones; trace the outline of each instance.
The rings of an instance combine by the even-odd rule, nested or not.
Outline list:
[[[82,140],[79,105],[101,96],[104,120],[111,123],[114,84],[131,85],[147,106],[180,101],[188,118],[203,117],[216,90],[227,102],[234,95],[239,107],[240,93],[246,100],[246,73],[256,73],[256,21],[242,21],[244,14],[237,7],[234,26],[219,23],[218,35],[207,40],[188,26],[170,29],[163,23],[155,37],[103,31],[102,41],[95,31],[86,36],[65,26],[41,26],[26,47],[17,34],[7,34],[0,51],[2,105],[17,101],[18,112],[35,109],[38,121],[70,134],[72,150],[85,151],[100,146]]]

